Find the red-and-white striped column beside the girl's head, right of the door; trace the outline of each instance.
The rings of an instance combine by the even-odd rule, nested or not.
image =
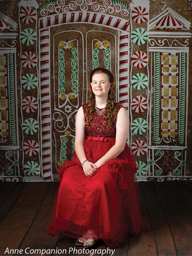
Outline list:
[[[119,38],[119,102],[128,109],[128,81],[129,81],[129,35],[120,31]]]

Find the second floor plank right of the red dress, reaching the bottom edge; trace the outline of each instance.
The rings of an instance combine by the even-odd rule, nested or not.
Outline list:
[[[140,187],[155,236],[157,255],[177,255],[172,234],[156,196],[153,183],[141,182]]]

